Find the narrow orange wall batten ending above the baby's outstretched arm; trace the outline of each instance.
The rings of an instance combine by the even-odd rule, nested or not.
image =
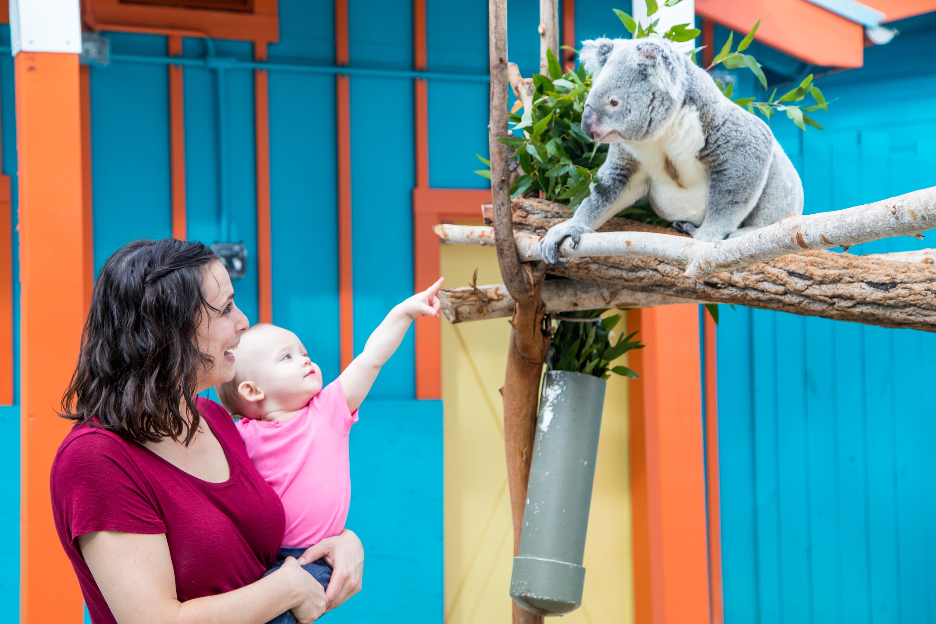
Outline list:
[[[335,0],[335,65],[351,62],[348,3]],[[354,359],[354,290],[351,255],[351,78],[335,76],[338,135],[338,315],[342,369]]]

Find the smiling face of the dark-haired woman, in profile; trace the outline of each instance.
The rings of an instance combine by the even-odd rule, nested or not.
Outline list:
[[[234,286],[220,262],[205,268],[201,294],[214,310],[205,310],[198,325],[198,349],[212,357],[212,365],[198,375],[198,392],[234,378],[231,351],[241,341],[241,332],[250,327],[247,317],[234,305]]]

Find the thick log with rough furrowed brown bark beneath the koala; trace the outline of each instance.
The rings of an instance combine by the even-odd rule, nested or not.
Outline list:
[[[542,235],[572,214],[559,204],[539,199],[515,200],[514,209],[515,229],[535,235]],[[631,225],[623,222],[626,220],[612,219],[602,231],[627,231],[624,228]],[[903,262],[810,251],[784,255],[730,274],[717,273],[703,281],[684,275],[678,264],[638,255],[578,258],[564,267],[548,267],[547,271],[612,288],[879,327],[936,331],[936,264],[922,260]]]

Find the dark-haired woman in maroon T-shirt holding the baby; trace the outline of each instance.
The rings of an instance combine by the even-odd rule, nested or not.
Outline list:
[[[283,507],[225,410],[197,394],[234,375],[247,328],[201,243],[137,240],[101,269],[51,472],[52,512],[95,624],[305,624],[358,592],[351,531],[271,568]],[[300,564],[325,557],[326,593]],[[262,577],[262,578],[261,578]]]

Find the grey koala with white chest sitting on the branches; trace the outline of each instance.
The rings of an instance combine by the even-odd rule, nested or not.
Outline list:
[[[567,262],[566,237],[578,244],[642,196],[680,232],[709,241],[802,213],[802,182],[767,123],[669,41],[582,41],[579,59],[592,72],[582,130],[610,145],[592,194],[540,241],[549,264]]]

